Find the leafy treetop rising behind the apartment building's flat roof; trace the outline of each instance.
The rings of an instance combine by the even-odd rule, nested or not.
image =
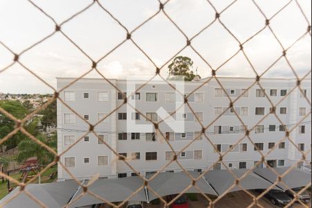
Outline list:
[[[168,66],[168,79],[173,80],[174,76],[184,76],[185,81],[191,81],[196,76],[193,71],[193,61],[186,56],[177,56],[173,62]]]

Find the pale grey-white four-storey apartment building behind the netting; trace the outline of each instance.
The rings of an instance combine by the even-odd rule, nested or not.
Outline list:
[[[73,78],[58,78],[58,89],[69,85],[73,80]],[[183,94],[189,95],[206,80],[207,78],[184,83]],[[275,150],[266,156],[266,161],[270,166],[295,164],[302,158],[297,147],[304,152],[311,148],[311,114],[309,114],[311,106],[306,101],[306,98],[311,101],[311,80],[304,80],[301,83],[305,98],[299,89],[291,92],[291,89],[297,85],[297,80],[261,79],[261,86],[266,90],[272,103],[274,105],[279,103],[276,113],[286,127],[281,125],[274,114],[268,114],[272,104],[264,96],[259,85],[253,85],[254,78],[219,78],[219,80],[233,101],[243,94],[234,102],[232,109],[226,110],[229,107],[229,99],[214,78],[191,94],[188,101],[200,123],[204,127],[209,125],[205,134],[220,153],[225,153],[239,141],[239,145],[223,157],[223,162],[229,168],[252,168],[255,163],[260,161],[261,155],[255,150],[250,139],[244,137],[245,129],[251,129],[257,123],[254,130],[250,131],[250,138],[263,155],[266,155],[285,137],[286,128],[291,129],[295,124],[300,123],[290,135],[296,146],[288,139],[277,145]],[[183,131],[176,132],[170,124],[162,122],[159,123],[158,128],[167,141],[162,139],[159,132],[155,133],[155,126],[144,116],[155,122],[161,121],[162,118],[157,114],[159,108],[162,107],[169,113],[175,112],[178,103],[180,102],[182,105],[184,98],[164,81],[156,80],[141,87],[145,82],[110,80],[112,85],[120,89],[121,92],[127,92],[128,96],[134,92],[134,90],[128,89],[130,85],[133,89],[139,89],[135,95],[129,98],[128,103],[135,101],[135,107],[141,114],[136,114],[133,110],[129,111],[130,107],[127,107],[127,104],[122,105],[123,94],[103,79],[80,79],[64,89],[60,93],[60,98],[81,118],[92,124],[98,123],[110,114],[107,119],[96,125],[94,131],[116,153],[131,157],[127,162],[141,175],[155,173],[171,161],[173,151],[167,142],[175,151],[180,151],[194,138],[198,139],[187,146],[180,155],[177,155],[177,161],[191,171],[204,171],[212,166],[218,160],[219,155],[206,137],[199,136],[202,126],[187,105],[184,105],[183,111],[179,110],[171,118],[174,119],[173,123],[178,121],[183,123]],[[172,85],[180,84],[173,81]],[[249,87],[250,89],[248,89]],[[287,96],[290,92],[291,94]],[[281,101],[283,98],[284,100]],[[71,112],[66,105],[58,101],[58,153],[66,151],[60,157],[62,164],[81,180],[88,179],[97,173],[101,177],[135,175],[125,162],[118,160],[118,157],[101,142],[101,139],[92,133],[87,134],[89,125]],[[222,114],[225,110],[226,112]],[[234,111],[239,114],[241,121],[246,126],[241,123]],[[263,119],[266,114],[268,116]],[[304,119],[304,116],[308,114],[309,116]],[[216,119],[218,116],[219,118]],[[75,145],[67,150],[72,144]],[[306,160],[311,162],[311,153],[307,155]],[[306,163],[301,162],[297,165],[304,166]],[[214,165],[214,168],[223,169],[225,166],[218,163]],[[164,171],[177,172],[181,171],[181,168],[176,162],[172,162],[164,168]],[[71,175],[59,165],[58,180],[70,178]]]

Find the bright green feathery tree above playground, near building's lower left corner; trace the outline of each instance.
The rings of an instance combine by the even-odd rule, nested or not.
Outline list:
[[[42,141],[42,143],[46,144],[47,146],[53,148],[56,150],[57,145],[57,139],[56,135],[53,135],[53,137],[48,138],[46,135],[37,135],[36,137],[39,141]],[[37,157],[37,161],[41,166],[44,166],[46,164],[49,164],[53,161],[54,155],[49,152],[49,150],[46,150],[43,146],[40,144],[37,144],[32,139],[23,139],[21,142],[19,142],[18,145],[19,153],[17,155],[17,161],[18,162],[25,162],[26,159],[29,157]]]

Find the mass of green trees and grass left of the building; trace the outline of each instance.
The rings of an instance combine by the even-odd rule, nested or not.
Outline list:
[[[23,103],[19,101],[0,101],[0,107],[6,112],[12,114],[17,119],[24,119],[28,114],[33,112],[34,107],[30,101],[24,101]],[[46,123],[46,124],[44,124]],[[0,139],[6,137],[10,132],[15,130],[16,123],[12,121],[5,114],[0,113]],[[51,103],[49,107],[46,107],[45,110],[42,110],[38,114],[35,114],[31,119],[24,123],[23,128],[37,138],[42,143],[56,150],[57,146],[57,137],[56,132],[46,133],[47,128],[56,126],[56,102]],[[17,132],[17,134],[13,135],[1,144],[0,148],[3,151],[9,150],[11,148],[18,149],[17,155],[8,155],[5,157],[0,157],[0,167],[3,166],[4,172],[6,173],[6,168],[10,164],[11,161],[17,161],[19,163],[25,162],[29,157],[37,157],[37,162],[40,169],[44,168],[47,164],[51,163],[54,159],[54,155],[46,150],[46,148],[42,147],[40,144],[37,144],[33,139],[24,135],[21,132]],[[40,170],[38,170],[40,171]],[[57,167],[53,166],[45,171],[41,175],[41,182],[53,182],[56,180]],[[53,174],[52,174],[53,173]],[[22,173],[12,173],[10,177],[14,177],[16,180],[21,181]],[[34,177],[32,171],[29,172],[28,177]],[[53,177],[51,177],[53,175]],[[26,180],[27,182],[27,180]],[[37,183],[38,178],[36,178],[33,183]],[[2,182],[0,180],[0,198],[3,198],[8,194],[7,181]],[[16,186],[16,184],[10,183],[11,187]]]

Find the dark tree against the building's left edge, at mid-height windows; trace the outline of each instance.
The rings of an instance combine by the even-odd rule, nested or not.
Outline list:
[[[56,100],[42,110],[40,114],[43,115],[41,121],[44,131],[46,131],[46,128],[56,128]]]

